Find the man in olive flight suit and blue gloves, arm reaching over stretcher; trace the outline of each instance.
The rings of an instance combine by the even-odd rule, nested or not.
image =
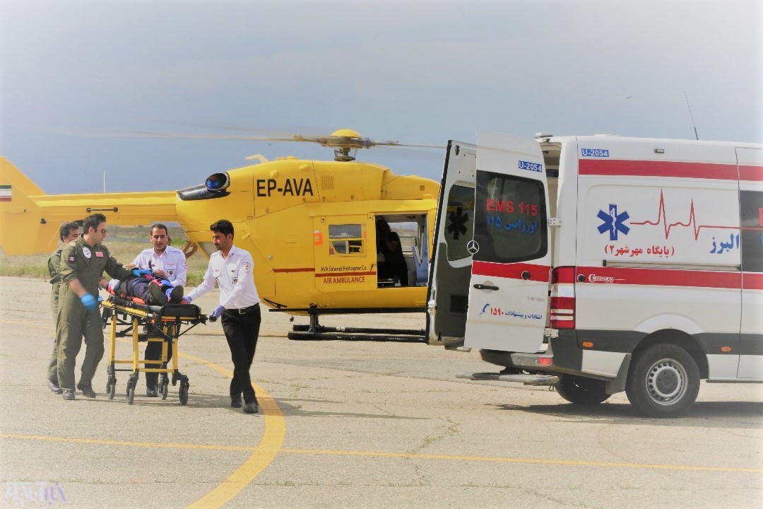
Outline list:
[[[105,271],[112,278],[139,277],[149,271],[125,269],[102,244],[106,237],[106,217],[85,217],[82,237],[61,251],[59,304],[58,382],[65,400],[74,399],[74,361],[85,336],[85,359],[77,388],[86,398],[95,398],[92,378],[103,357],[103,329],[98,314],[98,282]]]

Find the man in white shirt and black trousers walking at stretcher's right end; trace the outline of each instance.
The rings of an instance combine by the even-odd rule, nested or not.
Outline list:
[[[254,261],[249,251],[233,246],[233,224],[221,219],[213,223],[212,242],[217,253],[209,257],[204,280],[185,300],[192,301],[214,288],[220,288],[220,305],[209,315],[221,317],[223,332],[233,359],[233,380],[230,381],[230,406],[256,414],[259,410],[249,369],[254,359],[259,336],[259,295],[254,285]]]

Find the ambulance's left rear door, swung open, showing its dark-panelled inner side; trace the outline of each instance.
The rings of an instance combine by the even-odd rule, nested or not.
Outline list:
[[[474,234],[476,169],[476,147],[449,141],[440,185],[427,298],[430,344],[459,346],[464,342],[472,275],[472,255],[467,243]]]

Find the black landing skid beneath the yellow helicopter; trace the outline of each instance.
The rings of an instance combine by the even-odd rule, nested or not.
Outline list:
[[[421,308],[323,308],[271,309],[272,312],[301,311],[310,315],[309,325],[295,325],[288,333],[290,340],[350,340],[350,341],[396,341],[399,343],[426,343],[423,329],[374,329],[366,327],[324,327],[318,323],[320,314],[369,314],[369,313],[421,313]]]

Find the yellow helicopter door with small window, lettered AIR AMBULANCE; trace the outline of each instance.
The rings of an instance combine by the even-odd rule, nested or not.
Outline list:
[[[351,214],[314,218],[315,289],[355,292],[376,288],[373,216]]]

